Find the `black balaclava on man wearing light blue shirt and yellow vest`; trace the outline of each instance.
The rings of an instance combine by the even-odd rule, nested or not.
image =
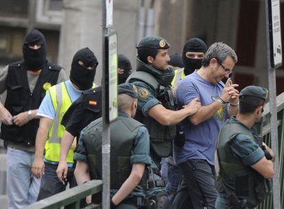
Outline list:
[[[80,65],[78,61],[82,61],[84,66]],[[97,64],[95,54],[88,47],[76,52],[71,65],[71,82],[80,88],[80,90],[91,89],[95,79]],[[94,67],[94,69],[88,69],[88,67],[91,66]]]

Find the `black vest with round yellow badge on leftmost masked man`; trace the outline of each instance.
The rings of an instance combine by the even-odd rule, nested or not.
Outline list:
[[[5,108],[13,116],[24,111],[38,109],[40,102],[45,97],[46,89],[44,87],[56,85],[60,69],[62,67],[47,62],[40,72],[34,91],[31,92],[24,63],[9,65]],[[2,123],[1,138],[25,146],[34,146],[38,122],[38,119],[34,119],[21,127],[14,124],[7,126]]]

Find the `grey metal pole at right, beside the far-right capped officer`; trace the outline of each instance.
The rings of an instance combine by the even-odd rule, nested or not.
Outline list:
[[[279,173],[279,140],[278,140],[278,126],[277,126],[277,109],[276,109],[276,79],[275,68],[271,67],[270,59],[270,29],[269,29],[269,14],[268,1],[265,0],[266,13],[266,44],[268,56],[268,89],[269,89],[269,106],[270,106],[270,139],[272,150],[275,152],[274,162],[274,179],[273,179],[273,208],[281,208],[280,203],[280,173]]]

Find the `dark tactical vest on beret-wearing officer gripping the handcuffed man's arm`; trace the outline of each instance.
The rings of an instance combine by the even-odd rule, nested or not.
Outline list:
[[[137,80],[150,86],[155,92],[154,96],[165,108],[171,110],[176,109],[174,94],[171,91],[171,87],[162,87],[154,76],[143,71],[132,73],[126,82],[133,83]],[[139,120],[147,127],[150,133],[152,151],[154,151],[154,153],[156,153],[159,157],[169,156],[171,154],[171,142],[176,137],[176,125],[164,126],[152,117],[144,117],[143,113],[139,110],[137,110],[135,119]]]

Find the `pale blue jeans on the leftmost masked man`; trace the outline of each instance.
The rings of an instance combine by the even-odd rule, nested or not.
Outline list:
[[[25,208],[36,202],[40,179],[32,175],[34,153],[8,146],[7,195],[8,208]]]

